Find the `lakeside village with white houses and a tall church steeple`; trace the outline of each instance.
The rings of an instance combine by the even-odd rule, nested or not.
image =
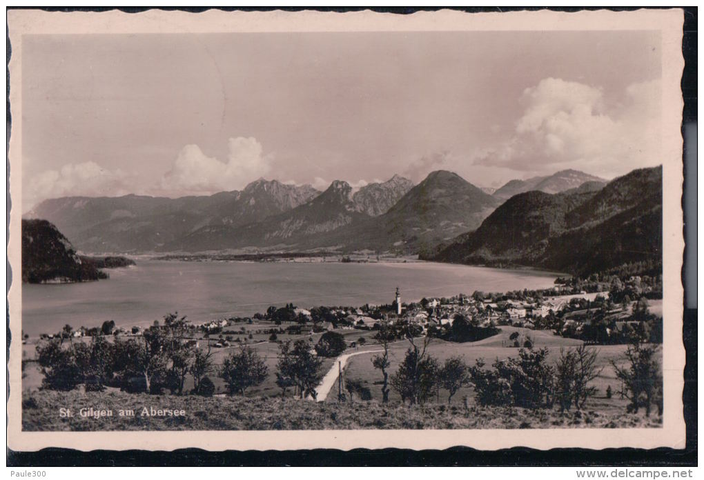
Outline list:
[[[412,326],[417,336],[434,335],[443,327],[451,327],[461,316],[474,327],[510,326],[524,329],[552,330],[555,335],[580,338],[595,317],[608,324],[607,330],[623,331],[641,319],[633,318],[639,298],[648,298],[646,308],[662,317],[661,286],[650,277],[630,277],[622,282],[607,278],[601,282],[577,282],[558,279],[551,289],[483,293],[459,293],[451,297],[429,297],[403,303],[396,289],[394,300],[386,305],[330,306],[300,308],[289,303],[270,306],[264,313],[251,317],[228,317],[207,322],[189,322],[189,343],[200,348],[201,341],[210,348],[228,348],[237,344],[263,341],[285,341],[325,331],[374,332],[382,323],[396,327]],[[658,293],[660,289],[660,293]],[[589,290],[589,291],[588,291]],[[155,320],[153,326],[158,326]],[[144,327],[119,327],[113,321],[101,327],[73,329],[66,325],[56,334],[42,334],[40,339],[96,335],[140,336]],[[610,333],[610,332],[609,332]],[[365,339],[365,337],[360,337]],[[359,339],[348,346],[356,347]],[[373,341],[373,336],[371,339]],[[26,341],[26,339],[25,339]],[[365,343],[368,340],[362,340]],[[598,342],[595,342],[598,343]],[[513,343],[507,346],[514,346]]]

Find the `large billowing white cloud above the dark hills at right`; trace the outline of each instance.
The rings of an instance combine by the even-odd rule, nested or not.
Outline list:
[[[513,137],[475,154],[475,165],[522,172],[565,168],[602,177],[658,165],[660,82],[631,84],[609,104],[596,87],[547,78],[525,89]]]

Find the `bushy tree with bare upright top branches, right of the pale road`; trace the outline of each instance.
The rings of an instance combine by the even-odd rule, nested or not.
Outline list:
[[[398,392],[401,401],[408,400],[410,405],[420,405],[432,396],[439,365],[437,360],[427,353],[427,337],[422,348],[415,345],[412,337],[409,337],[408,341],[410,347],[406,350],[406,358],[391,376],[391,388]]]

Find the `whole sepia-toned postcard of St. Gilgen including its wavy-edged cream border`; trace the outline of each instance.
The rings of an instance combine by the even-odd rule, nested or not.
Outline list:
[[[18,438],[684,441],[681,11],[525,13],[11,11]]]

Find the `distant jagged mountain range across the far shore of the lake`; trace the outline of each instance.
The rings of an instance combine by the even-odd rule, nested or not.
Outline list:
[[[76,248],[92,253],[254,248],[433,255],[439,245],[482,225],[510,184],[579,195],[603,187],[601,179],[574,170],[539,178],[509,182],[493,195],[444,170],[415,186],[394,175],[357,190],[335,180],[322,192],[258,179],[241,191],[211,196],[56,198],[25,217],[53,222]]]

